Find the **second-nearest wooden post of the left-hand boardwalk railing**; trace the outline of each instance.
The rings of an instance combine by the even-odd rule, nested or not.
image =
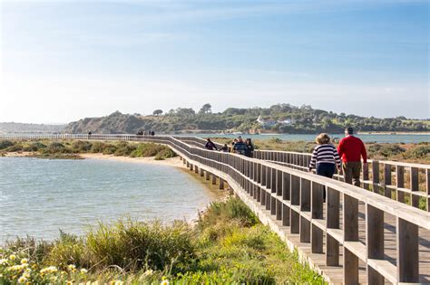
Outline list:
[[[384,259],[384,211],[366,204],[367,258]],[[367,284],[384,284],[384,276],[367,265]]]

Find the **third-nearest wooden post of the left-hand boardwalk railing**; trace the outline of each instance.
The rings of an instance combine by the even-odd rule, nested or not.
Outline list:
[[[358,242],[358,200],[344,194],[344,241]],[[358,284],[358,257],[344,246],[344,284]]]

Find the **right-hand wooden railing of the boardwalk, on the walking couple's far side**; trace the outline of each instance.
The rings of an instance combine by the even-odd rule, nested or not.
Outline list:
[[[176,137],[194,146],[204,146],[205,139]],[[217,144],[217,147],[220,147]],[[308,171],[311,154],[279,150],[255,150],[254,158],[268,160],[282,166]],[[401,203],[430,212],[430,166],[397,161],[368,159],[363,166],[361,185],[367,190],[385,195]],[[343,181],[343,176],[334,178]],[[420,202],[421,201],[421,202]]]

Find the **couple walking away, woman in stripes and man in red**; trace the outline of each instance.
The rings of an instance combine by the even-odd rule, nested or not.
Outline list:
[[[345,182],[360,186],[361,157],[367,163],[366,147],[360,138],[354,136],[354,129],[345,129],[345,138],[342,138],[337,148],[331,144],[327,134],[320,134],[316,138],[318,144],[312,152],[309,172],[316,169],[318,176],[333,177],[336,166],[343,173]]]

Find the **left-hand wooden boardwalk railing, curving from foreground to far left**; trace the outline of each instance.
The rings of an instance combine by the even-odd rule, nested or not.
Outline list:
[[[212,178],[218,176],[228,182],[263,223],[294,243],[301,256],[327,280],[345,284],[430,282],[430,214],[383,195],[264,158],[210,151],[167,136],[19,138],[131,140],[168,145],[191,169],[194,166],[197,172],[199,167],[200,175],[206,171]]]

